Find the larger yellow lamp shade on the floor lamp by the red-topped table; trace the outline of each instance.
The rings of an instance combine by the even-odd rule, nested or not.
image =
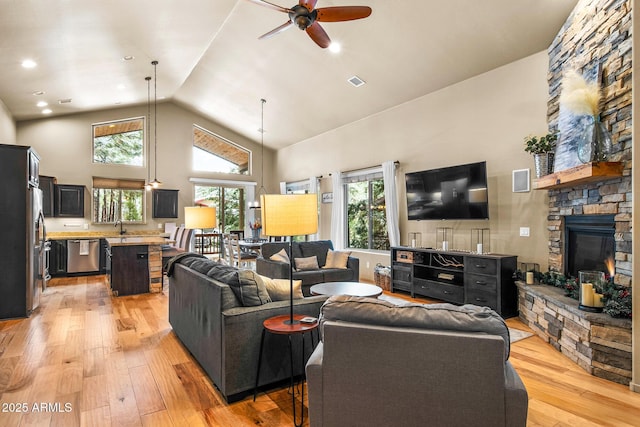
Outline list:
[[[266,236],[302,236],[318,231],[317,194],[263,194],[260,204]]]

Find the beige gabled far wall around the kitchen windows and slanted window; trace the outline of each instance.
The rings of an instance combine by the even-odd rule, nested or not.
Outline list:
[[[23,121],[17,123],[17,139],[21,145],[35,147],[40,154],[42,175],[55,176],[61,184],[81,184],[91,188],[93,176],[113,178],[146,179],[145,168],[131,166],[111,166],[91,162],[91,125],[93,123],[144,116],[146,105],[114,110],[103,110],[87,114]],[[205,129],[218,133],[231,141],[242,145],[254,153],[253,176],[224,175],[216,173],[193,172],[191,170],[192,126],[198,124]],[[257,129],[257,127],[256,127]],[[256,131],[257,133],[257,131]],[[153,142],[151,151],[153,152]],[[128,226],[127,229],[157,228],[164,222],[184,222],[184,206],[193,203],[193,184],[189,178],[231,179],[256,182],[260,180],[260,145],[240,135],[234,134],[201,116],[185,110],[173,103],[158,104],[158,173],[162,188],[177,189],[179,193],[180,217],[176,220],[158,219],[151,216],[151,196],[147,196],[147,224]],[[153,158],[151,160],[153,165]],[[273,162],[273,151],[265,150],[265,165]],[[151,178],[153,179],[153,169]],[[265,180],[270,178],[270,170],[265,167]],[[277,188],[277,187],[276,187]],[[271,190],[267,188],[268,190]],[[77,231],[69,225],[89,224],[90,229],[105,229],[112,226],[90,224],[91,204],[89,193],[85,193],[85,218],[50,218],[47,226],[50,231]],[[66,224],[66,226],[65,226]]]

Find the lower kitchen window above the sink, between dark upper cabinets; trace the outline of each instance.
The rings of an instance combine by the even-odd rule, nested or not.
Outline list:
[[[144,223],[144,181],[93,178],[93,222]]]

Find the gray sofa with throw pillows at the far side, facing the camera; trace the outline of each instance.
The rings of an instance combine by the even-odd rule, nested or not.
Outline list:
[[[256,260],[256,271],[263,276],[274,279],[289,278],[289,264],[269,259],[284,249],[289,252],[288,242],[263,243],[261,255]],[[293,258],[318,257],[317,270],[303,270],[293,272],[295,280],[302,280],[302,293],[310,296],[309,288],[312,285],[323,282],[357,282],[360,279],[360,261],[358,258],[349,257],[347,268],[322,268],[327,262],[327,251],[333,250],[331,240],[316,240],[312,242],[293,242]],[[295,263],[294,263],[295,266]]]

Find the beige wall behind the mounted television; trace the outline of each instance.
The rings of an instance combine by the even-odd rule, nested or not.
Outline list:
[[[546,191],[513,193],[514,169],[533,168],[523,138],[547,132],[546,52],[540,52],[436,93],[281,149],[277,180],[322,175],[321,192],[331,191],[329,173],[398,160],[400,232],[422,233],[434,246],[437,227],[454,228],[453,246],[469,249],[472,228],[491,229],[491,251],[547,268],[548,196]],[[404,173],[487,161],[489,221],[407,221]],[[533,176],[533,171],[532,171]],[[331,205],[321,206],[322,238],[330,237]],[[530,227],[531,237],[519,237]],[[375,263],[389,264],[388,253],[358,253],[361,277],[373,278]],[[369,266],[367,268],[367,263]]]

